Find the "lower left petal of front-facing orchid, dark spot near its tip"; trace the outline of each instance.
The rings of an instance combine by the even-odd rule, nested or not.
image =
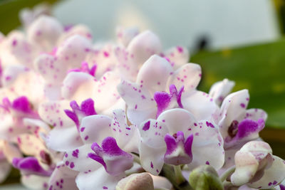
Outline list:
[[[166,152],[165,147],[150,147],[144,142],[140,142],[140,164],[145,171],[150,172],[152,175],[158,175],[163,167],[163,156]]]

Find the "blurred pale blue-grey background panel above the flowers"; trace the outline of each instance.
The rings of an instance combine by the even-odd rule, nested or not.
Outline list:
[[[157,33],[166,47],[193,48],[207,36],[209,48],[272,41],[279,28],[271,0],[66,0],[53,13],[63,23],[86,23],[95,39],[114,36],[115,26]]]

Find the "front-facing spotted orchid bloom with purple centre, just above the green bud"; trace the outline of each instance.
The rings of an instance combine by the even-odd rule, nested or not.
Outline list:
[[[188,164],[190,168],[210,164],[216,169],[224,164],[223,140],[217,126],[197,121],[187,110],[162,112],[157,120],[142,122],[139,130],[140,162],[151,174],[159,174],[164,163]]]

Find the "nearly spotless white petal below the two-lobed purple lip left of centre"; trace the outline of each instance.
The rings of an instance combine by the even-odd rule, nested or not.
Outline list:
[[[64,134],[64,135],[63,135]],[[64,152],[83,145],[77,127],[55,127],[46,137],[46,146]]]

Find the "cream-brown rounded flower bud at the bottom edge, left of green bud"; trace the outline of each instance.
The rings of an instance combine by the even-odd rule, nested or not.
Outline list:
[[[153,190],[153,181],[147,172],[140,174],[131,174],[121,179],[115,190]]]

